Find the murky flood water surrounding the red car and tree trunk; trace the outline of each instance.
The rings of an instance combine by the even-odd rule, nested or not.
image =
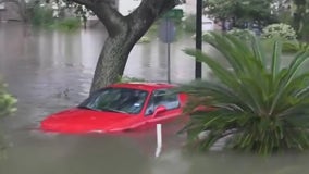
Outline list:
[[[85,99],[106,37],[102,29],[63,33],[0,24],[0,74],[18,98],[18,111],[0,123],[8,144],[0,159],[0,174],[309,173],[308,154],[261,158],[184,152],[184,136],[175,134],[174,124],[163,126],[159,158],[154,157],[153,129],[118,135],[55,135],[35,129],[46,115]],[[186,47],[194,47],[189,36],[172,45],[174,83],[194,79],[195,62],[181,51]],[[125,75],[166,80],[166,46],[158,39],[136,45]]]

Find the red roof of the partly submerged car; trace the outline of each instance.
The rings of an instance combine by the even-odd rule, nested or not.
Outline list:
[[[131,83],[119,83],[110,85],[109,87],[124,87],[124,88],[134,88],[141,90],[157,90],[161,88],[172,88],[176,85],[168,83],[148,83],[148,82],[131,82]]]

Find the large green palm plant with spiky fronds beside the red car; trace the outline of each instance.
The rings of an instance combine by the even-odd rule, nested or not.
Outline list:
[[[272,53],[265,54],[254,36],[249,42],[217,33],[203,39],[231,67],[223,66],[211,54],[185,50],[206,63],[215,77],[182,87],[193,97],[185,110],[191,117],[184,127],[190,139],[196,140],[201,132],[207,132],[196,144],[206,150],[224,137],[230,137],[225,148],[261,154],[307,149],[309,72],[300,69],[309,52],[298,52],[288,66],[281,67],[280,41],[274,41]],[[214,109],[194,112],[198,105]]]

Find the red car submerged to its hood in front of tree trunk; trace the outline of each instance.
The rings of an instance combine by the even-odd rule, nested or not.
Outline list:
[[[182,115],[187,95],[176,86],[159,83],[124,83],[102,88],[78,107],[52,114],[40,129],[57,133],[112,133],[139,129]]]

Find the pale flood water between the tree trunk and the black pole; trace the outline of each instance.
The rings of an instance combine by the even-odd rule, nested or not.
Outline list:
[[[182,49],[194,46],[187,36],[183,41],[171,44],[171,80],[185,83],[194,79],[195,61]],[[159,39],[151,44],[136,45],[129,54],[125,74],[148,80],[168,80],[168,46]]]

